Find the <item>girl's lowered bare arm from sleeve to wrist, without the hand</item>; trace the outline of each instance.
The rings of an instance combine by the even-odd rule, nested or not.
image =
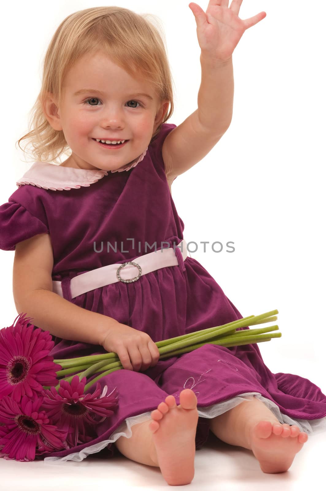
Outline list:
[[[84,309],[52,291],[53,249],[49,234],[16,244],[13,294],[17,312],[30,324],[71,341],[102,345],[118,321]]]

